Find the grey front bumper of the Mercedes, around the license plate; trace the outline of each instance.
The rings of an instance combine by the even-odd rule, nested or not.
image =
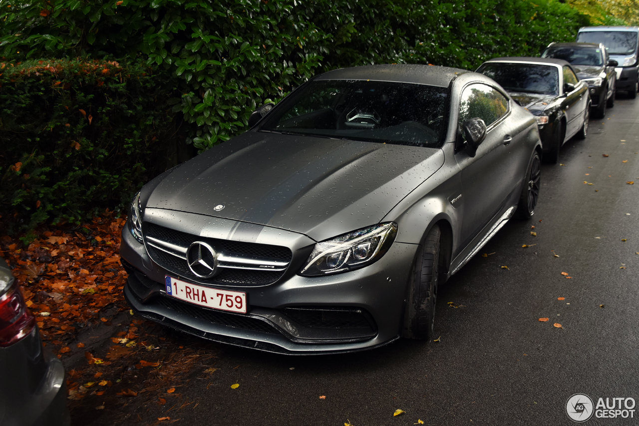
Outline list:
[[[249,313],[236,314],[167,296],[164,275],[176,274],[148,258],[126,227],[122,241],[125,298],[139,315],[208,340],[283,354],[360,351],[398,338],[417,250],[395,242],[378,262],[357,271],[314,278],[287,271],[271,285],[233,287],[247,293],[250,306]]]

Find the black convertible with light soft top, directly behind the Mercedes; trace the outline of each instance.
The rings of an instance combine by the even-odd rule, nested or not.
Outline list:
[[[590,95],[562,59],[495,58],[477,72],[497,81],[521,106],[535,115],[543,144],[544,161],[555,164],[564,143],[588,134]]]

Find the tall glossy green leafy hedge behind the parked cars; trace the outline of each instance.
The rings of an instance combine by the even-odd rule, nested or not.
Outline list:
[[[558,0],[20,0],[0,10],[0,56],[144,58],[180,90],[199,149],[318,72],[369,63],[475,68],[574,40]]]

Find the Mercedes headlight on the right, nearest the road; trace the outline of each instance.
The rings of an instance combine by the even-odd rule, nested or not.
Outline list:
[[[300,275],[322,276],[352,271],[376,262],[395,241],[397,224],[380,223],[315,244]]]

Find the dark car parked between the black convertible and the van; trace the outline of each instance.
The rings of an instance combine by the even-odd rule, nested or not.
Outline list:
[[[568,61],[581,81],[589,86],[592,110],[596,118],[606,115],[606,107],[615,105],[615,82],[619,65],[608,57],[603,44],[599,43],[550,43],[542,58]]]

